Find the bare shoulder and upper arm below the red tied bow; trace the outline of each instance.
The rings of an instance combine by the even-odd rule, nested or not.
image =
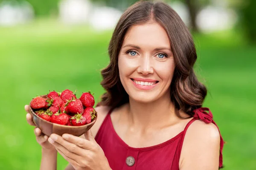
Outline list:
[[[180,154],[180,170],[189,167],[193,167],[193,170],[218,169],[219,150],[220,134],[216,125],[195,120],[184,137]]]

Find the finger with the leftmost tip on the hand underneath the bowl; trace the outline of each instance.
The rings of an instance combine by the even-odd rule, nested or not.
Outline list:
[[[66,141],[65,139],[63,139],[61,136],[57,134],[51,134],[48,141],[50,143],[52,142],[52,145],[54,146],[56,145],[57,147],[61,147],[61,148],[64,147],[69,152],[75,153],[76,155],[84,156],[83,148],[78,147],[76,144]]]

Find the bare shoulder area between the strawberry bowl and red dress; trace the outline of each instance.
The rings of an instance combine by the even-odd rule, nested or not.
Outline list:
[[[111,109],[110,106],[97,106],[95,108],[98,117],[97,117],[97,121],[95,122],[95,124],[91,127],[93,137],[96,136],[100,126],[102,125],[102,122],[104,121],[104,119],[107,116],[110,109]]]

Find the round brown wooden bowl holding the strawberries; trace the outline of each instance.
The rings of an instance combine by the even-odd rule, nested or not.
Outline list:
[[[47,98],[47,95],[43,95],[41,97]],[[94,118],[92,122],[86,125],[82,125],[82,126],[59,125],[59,124],[48,122],[44,119],[41,119],[33,111],[33,109],[30,106],[30,103],[29,103],[29,113],[31,114],[32,120],[35,123],[35,125],[39,127],[42,133],[44,133],[47,136],[50,136],[52,133],[58,134],[60,136],[62,136],[64,133],[68,133],[74,136],[81,136],[94,125],[97,119],[97,113],[96,113],[95,114],[96,118]]]

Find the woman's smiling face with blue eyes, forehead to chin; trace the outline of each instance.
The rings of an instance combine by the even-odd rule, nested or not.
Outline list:
[[[170,97],[175,63],[169,37],[158,23],[129,28],[118,56],[125,91],[137,102]]]

